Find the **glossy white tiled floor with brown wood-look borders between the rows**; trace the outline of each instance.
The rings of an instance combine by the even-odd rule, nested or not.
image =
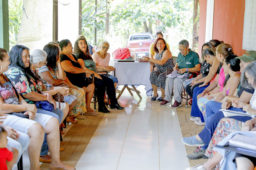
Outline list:
[[[204,162],[188,160],[187,153],[195,148],[181,142],[183,136],[202,129],[187,121],[190,108],[160,107],[160,102],[145,95],[144,87],[137,88],[142,100],[135,92],[134,96],[128,91],[122,94],[119,103],[125,110],[111,109],[111,114],[85,116],[68,125],[61,142],[65,148],[62,161],[77,170],[184,170]],[[23,166],[29,169],[27,151],[23,153]],[[48,167],[49,164],[41,165],[41,169]]]

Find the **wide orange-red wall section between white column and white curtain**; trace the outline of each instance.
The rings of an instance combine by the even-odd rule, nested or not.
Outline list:
[[[242,56],[245,51],[242,49],[244,8],[245,0],[214,1],[212,37],[230,44],[238,56]]]

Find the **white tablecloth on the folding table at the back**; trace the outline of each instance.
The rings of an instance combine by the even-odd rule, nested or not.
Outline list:
[[[110,60],[109,65],[116,69],[119,85],[145,85],[147,96],[152,94],[149,62],[116,62]],[[112,71],[110,74],[113,76],[114,72]]]

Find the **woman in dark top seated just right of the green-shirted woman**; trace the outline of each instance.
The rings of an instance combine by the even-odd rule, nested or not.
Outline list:
[[[202,46],[202,58],[204,62],[202,63],[202,67],[200,69],[201,74],[198,75],[196,78],[190,78],[184,81],[185,90],[187,94],[190,96],[190,105],[192,105],[194,88],[203,84],[205,78],[207,77],[209,71],[211,70],[211,66],[215,59],[215,55],[216,49],[213,47],[211,42],[204,43]]]

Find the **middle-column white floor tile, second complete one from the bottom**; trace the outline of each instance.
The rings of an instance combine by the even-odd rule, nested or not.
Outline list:
[[[124,144],[122,153],[159,154],[159,146],[158,145]]]

